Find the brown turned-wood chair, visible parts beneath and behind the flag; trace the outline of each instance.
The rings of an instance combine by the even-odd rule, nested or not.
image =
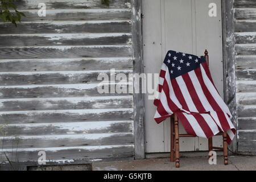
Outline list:
[[[205,60],[209,65],[209,56],[208,51],[205,50]],[[213,149],[223,150],[224,164],[228,165],[228,143],[226,142],[227,134],[226,132],[220,132],[217,135],[222,135],[223,137],[223,147],[213,147],[212,138],[208,139],[208,150],[209,152]],[[195,137],[189,134],[179,134],[179,119],[176,114],[173,114],[171,117],[171,156],[170,161],[175,162],[176,167],[180,167],[180,148],[179,148],[179,138],[180,137]],[[210,156],[209,156],[210,157]]]

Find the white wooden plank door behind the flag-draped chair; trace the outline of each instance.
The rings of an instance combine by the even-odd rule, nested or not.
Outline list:
[[[208,49],[210,71],[223,97],[221,0],[142,0],[144,73],[159,73],[168,50],[204,55]],[[217,16],[209,16],[215,3]],[[170,119],[156,124],[156,107],[145,94],[146,152],[170,151]],[[184,133],[180,125],[180,132]],[[220,137],[214,137],[221,146]],[[181,138],[181,151],[207,150],[207,139]]]

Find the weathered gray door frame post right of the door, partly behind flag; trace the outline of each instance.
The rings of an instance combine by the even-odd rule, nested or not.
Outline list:
[[[222,0],[222,39],[223,39],[223,80],[224,101],[233,115],[232,122],[237,130],[236,105],[236,64],[234,39],[234,1]],[[230,145],[230,150],[237,152],[237,133]]]

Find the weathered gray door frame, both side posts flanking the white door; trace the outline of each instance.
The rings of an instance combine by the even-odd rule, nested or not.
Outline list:
[[[144,0],[145,1],[145,0]],[[233,0],[221,0],[222,11],[222,46],[223,46],[223,74],[224,74],[224,101],[233,115],[232,122],[237,129],[236,108],[236,76],[235,76],[235,40]],[[134,73],[143,73],[143,40],[142,40],[142,0],[131,0],[132,31],[133,31],[133,62]],[[142,88],[141,82],[133,82],[134,88]],[[143,94],[133,94],[134,101],[134,158],[145,158],[144,137],[144,98]],[[230,146],[237,152],[237,134]]]

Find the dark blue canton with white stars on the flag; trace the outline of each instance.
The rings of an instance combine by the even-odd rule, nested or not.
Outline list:
[[[164,64],[169,69],[171,79],[200,67],[200,63],[204,62],[206,62],[204,56],[195,56],[176,51],[168,51],[164,59]]]

